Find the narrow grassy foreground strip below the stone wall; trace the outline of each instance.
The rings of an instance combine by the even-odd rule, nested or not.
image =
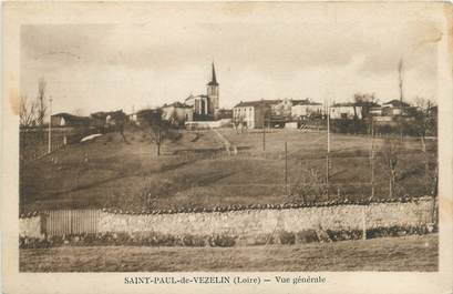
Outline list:
[[[251,247],[20,250],[21,272],[437,271],[439,239],[384,237]]]

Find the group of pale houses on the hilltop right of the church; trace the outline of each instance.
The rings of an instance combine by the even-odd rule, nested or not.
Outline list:
[[[373,101],[368,98],[356,102],[333,103],[330,107],[310,99],[241,101],[233,109],[233,122],[236,126],[247,129],[264,125],[297,128],[300,124],[325,120],[327,113],[331,120],[366,120],[388,125],[398,124],[400,118],[405,121],[415,119],[418,109],[409,103],[391,100],[379,104]]]

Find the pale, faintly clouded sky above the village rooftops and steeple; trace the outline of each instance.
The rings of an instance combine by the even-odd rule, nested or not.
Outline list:
[[[435,99],[434,26],[359,20],[174,7],[143,23],[23,26],[21,93],[34,99],[44,78],[54,113],[131,112],[204,94],[214,61],[220,108],[282,98],[343,102],[356,92],[384,102],[399,98],[402,57],[405,99]]]

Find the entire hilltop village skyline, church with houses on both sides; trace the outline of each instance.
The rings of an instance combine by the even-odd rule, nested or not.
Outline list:
[[[174,125],[212,128],[229,124],[235,128],[295,128],[310,121],[323,120],[327,113],[331,120],[372,120],[375,123],[395,123],[395,118],[413,116],[414,107],[400,100],[391,100],[378,104],[372,95],[354,97],[356,102],[333,103],[326,107],[310,99],[278,99],[241,101],[233,109],[219,108],[219,83],[217,82],[214,62],[212,78],[206,84],[206,93],[191,94],[183,102],[164,104],[158,109],[145,109],[125,114],[123,111],[96,112],[90,116],[76,116],[70,113],[52,115],[53,126],[115,124],[115,121],[125,119],[127,122],[141,124],[146,112],[159,111],[162,119]]]

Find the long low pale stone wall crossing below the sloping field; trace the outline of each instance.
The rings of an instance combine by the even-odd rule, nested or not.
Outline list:
[[[276,231],[301,232],[306,230],[353,231],[392,226],[421,226],[432,223],[433,200],[420,197],[410,202],[343,204],[292,209],[238,210],[227,212],[185,212],[161,214],[123,214],[93,210],[96,213],[95,232],[134,233],[155,232],[172,235],[229,235],[254,236]],[[59,214],[58,211],[54,215]],[[55,217],[51,215],[52,217]],[[82,215],[73,213],[72,215]],[[45,214],[20,220],[20,235],[43,236]],[[68,220],[68,217],[66,217]],[[78,226],[78,220],[69,219]],[[64,221],[64,220],[62,220]],[[79,230],[80,231],[80,230]],[[78,233],[83,233],[79,232]],[[71,232],[74,232],[72,230]],[[65,234],[71,234],[66,232]],[[50,235],[55,233],[47,232]],[[62,234],[59,231],[59,234]]]

